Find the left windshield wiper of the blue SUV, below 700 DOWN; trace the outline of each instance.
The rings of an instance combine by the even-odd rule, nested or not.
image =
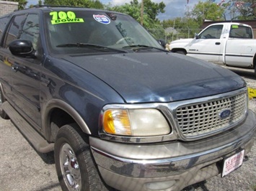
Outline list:
[[[115,52],[126,53],[125,50],[119,50],[112,47],[105,47],[102,45],[94,45],[94,44],[88,44],[88,43],[66,43],[66,44],[57,45],[56,47],[91,47],[91,48],[97,48],[100,50],[114,50]]]

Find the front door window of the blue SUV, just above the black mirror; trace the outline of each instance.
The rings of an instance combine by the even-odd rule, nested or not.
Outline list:
[[[28,39],[37,50],[37,41],[39,38],[39,19],[37,14],[29,14],[20,32],[19,39]]]

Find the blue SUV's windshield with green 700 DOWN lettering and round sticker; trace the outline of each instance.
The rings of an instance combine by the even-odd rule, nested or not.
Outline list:
[[[156,39],[127,15],[73,9],[46,12],[45,19],[48,45],[55,53],[118,52],[135,45],[162,50]]]

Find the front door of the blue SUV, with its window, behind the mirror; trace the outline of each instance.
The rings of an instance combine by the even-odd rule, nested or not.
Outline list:
[[[31,123],[40,126],[40,60],[12,55],[8,45],[15,39],[27,39],[35,50],[39,43],[39,17],[24,14],[12,19],[4,44],[6,60],[9,61],[12,105]]]

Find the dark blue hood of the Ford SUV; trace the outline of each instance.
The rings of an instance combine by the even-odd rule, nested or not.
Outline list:
[[[118,92],[126,103],[181,101],[245,86],[218,65],[169,52],[65,56]]]

